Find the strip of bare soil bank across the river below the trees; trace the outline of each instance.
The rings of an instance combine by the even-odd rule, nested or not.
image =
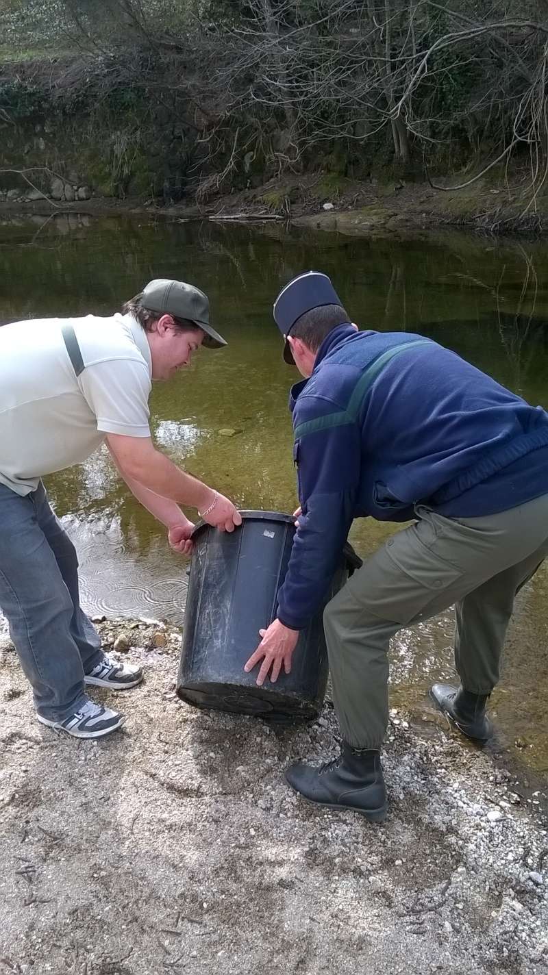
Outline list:
[[[279,219],[346,234],[405,233],[444,226],[480,232],[544,235],[548,232],[548,187],[532,198],[528,175],[515,174],[501,184],[482,177],[462,190],[436,189],[421,182],[395,178],[379,182],[308,174],[272,179],[255,189],[216,195],[207,203],[163,206],[149,197],[94,197],[78,203],[5,201],[0,217],[14,214],[155,215],[195,219]],[[326,209],[327,208],[327,209]]]

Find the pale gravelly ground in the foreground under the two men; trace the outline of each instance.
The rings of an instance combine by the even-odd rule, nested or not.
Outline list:
[[[0,661],[0,972],[318,975],[548,972],[546,792],[454,735],[427,701],[392,712],[382,825],[299,800],[283,778],[336,753],[327,703],[286,731],[176,698],[180,637],[98,622],[145,681],[97,700],[98,741],[35,721]]]

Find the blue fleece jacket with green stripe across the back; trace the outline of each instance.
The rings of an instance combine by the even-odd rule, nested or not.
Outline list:
[[[474,518],[548,493],[548,413],[421,335],[338,326],[290,407],[302,516],[278,618],[295,630],[354,518]]]

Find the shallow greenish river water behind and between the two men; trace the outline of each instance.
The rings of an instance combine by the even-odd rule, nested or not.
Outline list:
[[[0,222],[0,322],[110,314],[154,277],[210,295],[226,349],[200,350],[151,398],[158,445],[244,508],[294,509],[295,370],[282,362],[272,301],[295,274],[327,272],[364,328],[421,331],[529,402],[548,407],[548,248],[448,233],[359,239],[267,223],[168,222],[59,215]],[[402,416],[403,423],[412,417]],[[82,602],[94,612],[180,623],[185,563],[121,484],[104,452],[47,479],[78,548]],[[189,511],[189,517],[195,513]],[[362,556],[395,526],[355,523]],[[428,710],[432,679],[452,676],[452,616],[402,631],[391,655],[392,703]],[[520,595],[495,691],[501,738],[548,769],[548,571]]]

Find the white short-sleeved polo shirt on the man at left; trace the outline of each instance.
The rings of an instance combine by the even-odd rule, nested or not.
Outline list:
[[[75,331],[77,377],[61,333]],[[34,319],[0,328],[0,483],[18,494],[85,460],[105,434],[149,437],[152,363],[132,315]]]

